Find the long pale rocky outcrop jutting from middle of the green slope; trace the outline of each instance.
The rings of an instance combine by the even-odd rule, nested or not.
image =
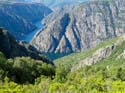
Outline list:
[[[101,60],[109,57],[113,51],[113,49],[115,48],[114,45],[110,45],[110,46],[106,46],[104,48],[100,48],[98,49],[93,55],[91,55],[90,57],[87,57],[86,59],[78,62],[77,65],[75,65],[72,70],[76,70],[79,69],[81,67],[87,66],[87,65],[94,65],[97,62],[100,62]]]

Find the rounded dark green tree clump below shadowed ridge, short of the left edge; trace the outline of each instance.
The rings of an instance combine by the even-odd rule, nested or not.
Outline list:
[[[14,77],[18,83],[34,83],[34,80],[40,75],[52,77],[55,73],[54,66],[51,64],[26,57],[14,59],[12,67],[9,77]]]

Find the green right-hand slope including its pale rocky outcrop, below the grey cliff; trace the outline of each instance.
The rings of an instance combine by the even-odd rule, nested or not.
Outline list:
[[[71,66],[72,71],[76,71],[85,66],[108,66],[124,62],[125,36],[119,36],[106,40],[95,48],[84,52],[73,53],[68,56],[56,59],[54,63],[58,66]],[[116,62],[116,63],[115,63]],[[118,62],[118,63],[117,63]]]

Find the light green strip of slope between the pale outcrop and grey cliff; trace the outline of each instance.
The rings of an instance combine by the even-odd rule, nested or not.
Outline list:
[[[84,52],[73,53],[71,55],[62,57],[60,59],[55,60],[54,63],[57,66],[60,65],[60,64],[65,65],[65,66],[67,66],[69,64],[70,65],[77,64],[79,61],[81,61],[81,60],[85,59],[86,57],[92,55],[99,48],[102,48],[102,47],[107,46],[107,45],[111,45],[111,44],[113,44],[114,42],[116,42],[120,39],[121,39],[121,37],[117,37],[117,38],[113,38],[113,39],[104,41],[104,42],[100,43],[99,45],[97,45],[95,48],[91,48],[91,49],[88,49]]]

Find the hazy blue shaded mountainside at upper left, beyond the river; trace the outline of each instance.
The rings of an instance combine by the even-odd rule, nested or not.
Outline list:
[[[10,31],[16,39],[22,40],[37,27],[51,9],[39,3],[2,3],[0,4],[0,27]]]

